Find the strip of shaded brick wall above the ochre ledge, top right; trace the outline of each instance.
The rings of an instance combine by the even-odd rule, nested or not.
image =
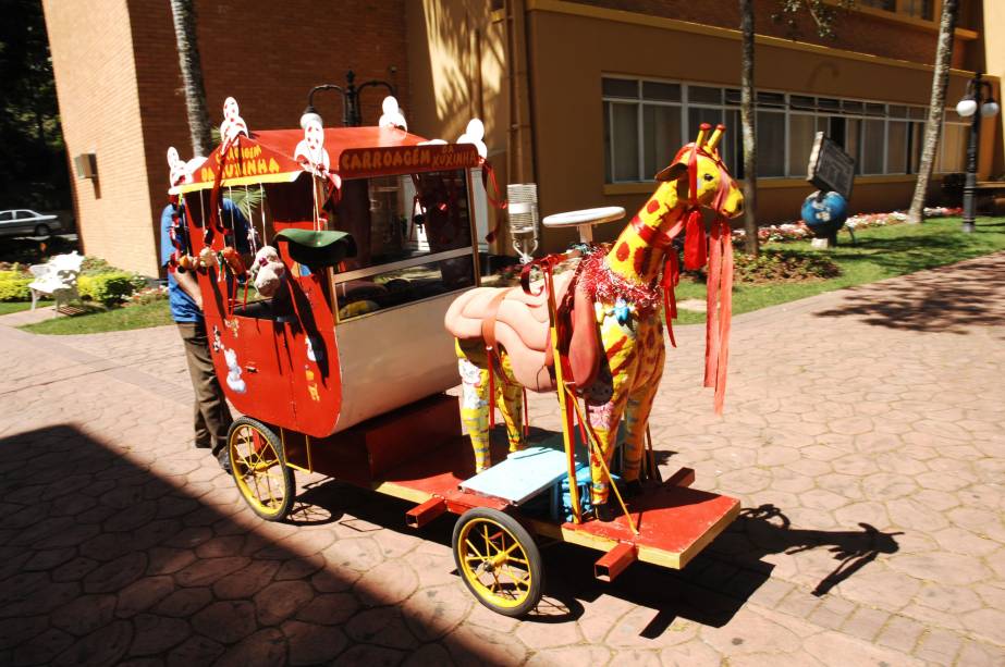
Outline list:
[[[739,29],[739,3],[695,2],[694,0],[572,0],[606,9],[636,12],[651,16],[677,18],[719,27]],[[935,62],[936,32],[910,23],[884,20],[855,11],[838,11],[835,23],[836,38],[817,35],[812,20],[806,12],[798,14],[793,32],[784,23],[771,21],[777,2],[756,2],[755,25],[757,33],[799,41],[819,44],[825,47],[895,58],[923,64]],[[957,39],[953,49],[953,66],[960,67],[966,59],[967,44]]]

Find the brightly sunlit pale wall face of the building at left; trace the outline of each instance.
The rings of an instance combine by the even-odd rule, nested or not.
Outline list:
[[[84,251],[157,275],[133,36],[125,0],[44,0],[63,137],[93,152],[98,177],[74,173]]]

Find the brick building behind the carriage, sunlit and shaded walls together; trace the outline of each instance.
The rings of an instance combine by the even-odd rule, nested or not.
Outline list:
[[[211,122],[219,125],[223,100],[232,96],[252,129],[296,127],[309,89],[344,85],[350,69],[357,83],[395,84],[407,114],[404,2],[197,0]],[[192,157],[170,4],[46,0],[45,5],[68,148],[76,155],[88,141],[101,143],[100,213],[90,203],[89,184],[75,182],[85,247],[117,265],[156,275],[167,149]],[[365,124],[377,122],[383,96],[383,89],[364,92]],[[327,125],[341,125],[336,94],[320,94],[316,106]],[[106,171],[113,164],[119,168]]]

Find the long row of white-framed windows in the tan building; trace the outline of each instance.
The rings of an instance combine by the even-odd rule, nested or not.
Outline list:
[[[702,123],[730,128],[719,149],[744,177],[738,89],[603,77],[602,90],[606,183],[651,181]],[[855,158],[856,174],[917,173],[926,114],[923,107],[759,90],[758,177],[805,177],[817,132]],[[935,171],[961,171],[966,137],[966,123],[947,114]]]

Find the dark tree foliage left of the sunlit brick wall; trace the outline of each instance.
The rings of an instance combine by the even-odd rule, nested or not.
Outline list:
[[[70,183],[40,0],[0,0],[0,209],[68,209]]]

